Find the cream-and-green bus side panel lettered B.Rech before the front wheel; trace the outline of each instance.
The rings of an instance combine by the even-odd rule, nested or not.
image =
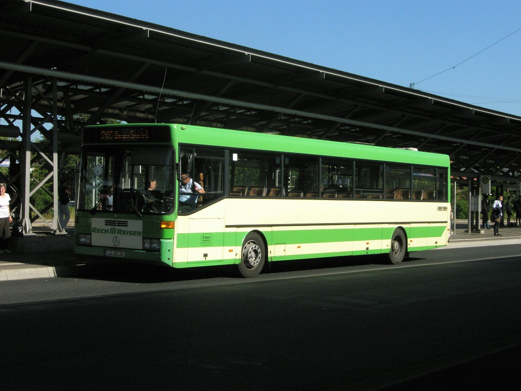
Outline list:
[[[187,265],[222,262],[224,218],[190,218]]]

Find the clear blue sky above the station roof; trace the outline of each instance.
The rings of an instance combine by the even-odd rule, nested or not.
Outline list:
[[[69,0],[521,116],[519,0]]]

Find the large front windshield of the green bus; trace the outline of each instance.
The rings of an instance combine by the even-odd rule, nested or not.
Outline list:
[[[82,151],[79,210],[170,214],[175,153],[163,145],[100,145]]]

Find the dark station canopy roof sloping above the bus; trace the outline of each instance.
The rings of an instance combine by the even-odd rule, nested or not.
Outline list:
[[[0,47],[2,105],[32,77],[34,104],[51,113],[55,78],[57,114],[90,114],[89,125],[190,123],[417,148],[450,155],[453,175],[519,182],[515,115],[59,1],[2,0]]]

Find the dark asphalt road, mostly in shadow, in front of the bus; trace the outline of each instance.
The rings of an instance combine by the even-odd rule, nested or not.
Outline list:
[[[521,381],[520,254],[312,260],[253,279],[96,266],[3,282],[0,389],[508,389]],[[490,369],[498,352],[515,357],[501,372],[468,364]]]

